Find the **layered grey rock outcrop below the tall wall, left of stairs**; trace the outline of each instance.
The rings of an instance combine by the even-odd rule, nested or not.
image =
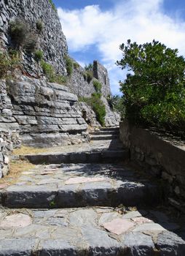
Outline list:
[[[87,124],[76,95],[66,86],[27,77],[1,86],[7,86],[8,94],[1,127],[17,129],[24,144],[64,145],[85,140]]]

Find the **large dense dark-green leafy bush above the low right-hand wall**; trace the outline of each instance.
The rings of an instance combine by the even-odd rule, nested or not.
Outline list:
[[[120,49],[123,58],[117,64],[131,71],[120,83],[126,117],[185,135],[184,57],[157,41],[138,45],[128,40]]]

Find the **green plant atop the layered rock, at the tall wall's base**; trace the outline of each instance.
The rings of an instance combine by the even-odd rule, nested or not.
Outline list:
[[[52,65],[50,65],[49,63],[45,61],[41,61],[41,66],[42,66],[44,75],[46,75],[50,83],[65,84],[67,82],[67,78],[64,77],[63,75],[57,75]]]

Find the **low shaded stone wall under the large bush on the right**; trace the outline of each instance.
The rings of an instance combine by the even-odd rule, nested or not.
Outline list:
[[[120,123],[120,139],[130,149],[130,159],[149,175],[168,182],[171,195],[185,198],[185,143],[134,127],[127,120]]]

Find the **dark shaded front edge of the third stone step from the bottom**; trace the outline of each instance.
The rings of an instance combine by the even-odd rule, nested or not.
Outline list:
[[[29,162],[40,164],[60,164],[60,163],[114,163],[127,160],[129,151],[126,148],[79,151],[70,153],[52,153],[52,154],[28,154],[20,156],[20,159],[28,159]]]

